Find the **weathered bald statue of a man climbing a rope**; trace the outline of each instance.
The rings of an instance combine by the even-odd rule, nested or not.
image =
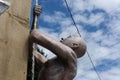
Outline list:
[[[35,6],[34,15],[39,16],[40,12],[41,7]],[[86,44],[80,36],[69,36],[65,39],[62,38],[59,42],[33,29],[30,39],[33,43],[49,49],[56,55],[47,60],[37,51],[34,52],[38,64],[42,66],[38,80],[73,80],[77,72],[77,58],[82,57],[86,52]]]

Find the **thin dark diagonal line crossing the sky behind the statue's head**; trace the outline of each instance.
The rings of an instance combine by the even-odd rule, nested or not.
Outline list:
[[[67,7],[67,9],[68,9],[68,12],[70,13],[70,17],[71,17],[71,19],[72,19],[72,21],[73,21],[73,24],[74,24],[74,26],[76,27],[76,30],[77,30],[79,36],[81,37],[79,28],[78,28],[78,26],[76,25],[76,22],[75,22],[75,20],[74,20],[74,18],[73,18],[72,12],[71,12],[71,10],[70,10],[70,8],[69,8],[69,6],[68,6],[67,0],[64,0],[64,2],[65,2],[65,4],[66,4],[66,7]],[[90,54],[88,53],[88,51],[87,51],[87,55],[88,55],[88,57],[89,57],[89,59],[90,59],[90,62],[92,63],[92,66],[93,66],[94,71],[96,72],[96,74],[97,74],[97,76],[98,76],[98,79],[101,80],[101,77],[100,77],[98,71],[96,70],[95,65],[94,65],[94,63],[93,63],[93,60],[92,60],[92,58],[90,57]]]

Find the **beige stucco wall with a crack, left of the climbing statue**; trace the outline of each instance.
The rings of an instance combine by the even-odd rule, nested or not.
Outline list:
[[[0,15],[0,80],[26,80],[31,0],[8,0]]]

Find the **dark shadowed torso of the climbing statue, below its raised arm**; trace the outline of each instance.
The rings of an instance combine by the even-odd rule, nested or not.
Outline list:
[[[73,80],[75,74],[76,71],[67,69],[67,65],[56,58],[45,63],[38,80]]]

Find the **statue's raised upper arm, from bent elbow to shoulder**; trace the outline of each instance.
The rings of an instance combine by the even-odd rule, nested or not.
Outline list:
[[[31,40],[34,43],[37,43],[50,51],[52,51],[57,57],[61,58],[64,61],[76,61],[76,55],[74,51],[65,46],[64,44],[56,41],[55,39],[51,38],[50,36],[38,31],[33,30],[30,35]]]

